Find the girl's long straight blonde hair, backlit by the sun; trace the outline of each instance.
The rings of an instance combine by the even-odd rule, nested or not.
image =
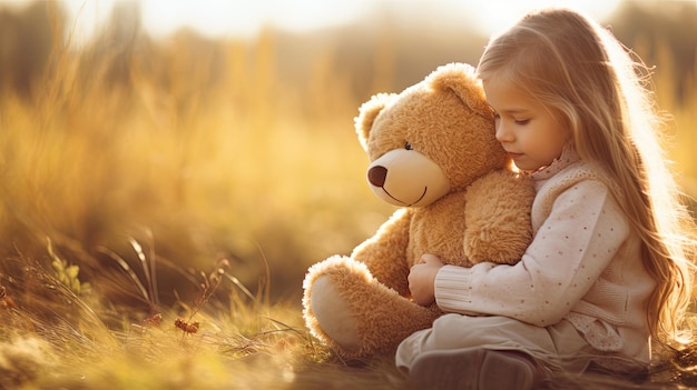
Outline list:
[[[657,282],[647,302],[651,336],[680,340],[695,223],[666,164],[647,68],[591,19],[547,9],[492,39],[478,73],[529,92],[572,129],[578,154],[600,172],[641,238],[644,266]]]

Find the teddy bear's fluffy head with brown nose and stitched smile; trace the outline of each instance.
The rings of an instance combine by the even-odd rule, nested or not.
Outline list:
[[[429,206],[510,163],[481,82],[464,63],[440,67],[402,93],[375,94],[355,128],[371,189],[395,206]]]

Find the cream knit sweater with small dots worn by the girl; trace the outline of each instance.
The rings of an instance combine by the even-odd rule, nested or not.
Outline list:
[[[540,327],[566,319],[600,352],[648,362],[645,302],[655,281],[616,200],[572,150],[532,178],[534,239],[521,261],[443,267],[439,307]]]

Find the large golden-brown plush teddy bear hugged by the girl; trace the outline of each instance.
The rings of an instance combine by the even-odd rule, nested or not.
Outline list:
[[[303,317],[345,359],[392,353],[442,314],[410,297],[424,253],[446,264],[512,264],[532,240],[534,188],[495,139],[494,113],[467,63],[449,63],[401,93],[377,93],[355,118],[372,191],[397,210],[351,256],[310,267]]]

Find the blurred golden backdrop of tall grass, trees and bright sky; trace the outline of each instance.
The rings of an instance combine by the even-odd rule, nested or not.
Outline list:
[[[477,64],[492,33],[560,2],[464,3],[0,1],[4,271],[60,256],[105,299],[139,301],[124,263],[145,280],[147,262],[164,303],[227,259],[300,306],[307,267],[394,211],[365,186],[360,104]],[[697,2],[577,3],[655,67],[697,196]]]

